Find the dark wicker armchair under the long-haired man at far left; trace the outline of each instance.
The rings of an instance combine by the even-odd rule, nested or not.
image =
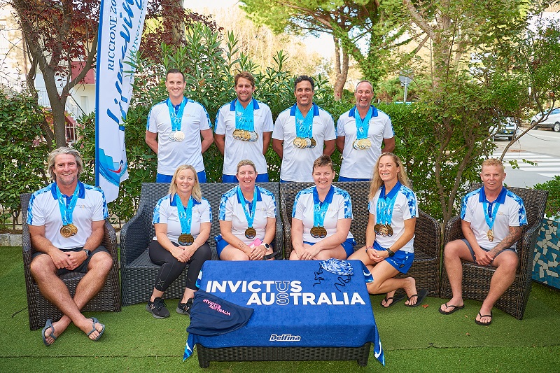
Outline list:
[[[51,318],[53,321],[57,321],[62,317],[62,312],[55,307],[54,304],[41,295],[39,292],[38,285],[35,282],[29,266],[31,265],[31,256],[36,253],[35,249],[31,246],[31,237],[29,235],[29,227],[27,226],[27,205],[29,204],[29,198],[31,194],[25,193],[20,195],[21,205],[22,205],[22,222],[23,222],[23,234],[22,234],[22,248],[23,248],[23,270],[25,272],[25,287],[27,288],[27,309],[29,311],[29,329],[37,330],[45,325],[45,322]],[[111,272],[107,276],[107,280],[102,290],[99,291],[95,297],[88,302],[83,311],[115,311],[120,312],[120,286],[118,283],[118,260],[117,260],[117,236],[113,226],[105,221],[105,236],[102,241],[102,245],[105,246],[107,251],[111,253],[113,257],[113,267],[111,267]],[[69,273],[64,274],[60,278],[68,289],[70,294],[76,293],[76,286],[83,278],[84,274],[81,273]]]

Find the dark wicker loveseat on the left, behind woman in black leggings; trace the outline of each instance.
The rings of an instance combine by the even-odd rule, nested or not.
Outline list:
[[[216,241],[214,237],[220,234],[220,223],[218,211],[223,193],[233,188],[237,183],[201,183],[202,196],[208,199],[212,209],[212,225],[208,244],[212,250],[212,259],[218,260],[216,252]],[[257,183],[266,188],[279,201],[278,183]],[[143,183],[140,197],[140,205],[136,215],[123,225],[120,231],[120,277],[123,293],[123,304],[137,304],[148,302],[153,291],[155,277],[160,269],[150,260],[148,245],[155,236],[152,225],[153,209],[158,200],[167,195],[169,183]],[[281,258],[283,253],[283,231],[279,215],[276,209],[276,238],[272,242],[274,250],[278,253],[276,258]],[[183,271],[165,291],[167,299],[181,298],[185,292],[187,271]]]

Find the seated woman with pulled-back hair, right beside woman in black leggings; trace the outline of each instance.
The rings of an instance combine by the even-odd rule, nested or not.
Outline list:
[[[262,260],[272,255],[276,234],[276,199],[255,185],[257,170],[250,160],[237,164],[239,185],[220,202],[220,231],[216,249],[221,260]]]

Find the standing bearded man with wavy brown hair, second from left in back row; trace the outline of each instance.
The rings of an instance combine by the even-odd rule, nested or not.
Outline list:
[[[216,114],[214,141],[223,154],[223,183],[237,183],[237,164],[252,160],[257,169],[256,182],[268,181],[265,159],[272,137],[272,112],[267,104],[253,99],[255,78],[243,71],[235,76],[237,98]]]

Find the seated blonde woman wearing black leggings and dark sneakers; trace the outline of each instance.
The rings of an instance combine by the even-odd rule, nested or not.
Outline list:
[[[187,265],[185,293],[176,311],[190,315],[193,297],[198,290],[198,274],[204,261],[212,256],[207,243],[211,221],[210,204],[202,198],[197,171],[187,164],[179,166],[169,185],[169,194],[158,201],[153,211],[155,237],[149,248],[150,260],[161,266],[152,296],[146,304],[146,310],[153,317],[169,317],[163,293]]]

